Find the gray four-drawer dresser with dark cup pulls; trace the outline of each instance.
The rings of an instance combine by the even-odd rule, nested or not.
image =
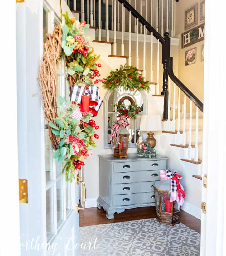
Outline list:
[[[108,219],[125,209],[154,206],[152,185],[160,180],[159,171],[166,170],[167,157],[137,157],[128,154],[127,159],[113,155],[99,155],[99,198],[97,207],[106,211]]]

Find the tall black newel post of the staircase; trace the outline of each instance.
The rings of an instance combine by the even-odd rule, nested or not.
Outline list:
[[[163,110],[163,120],[168,119],[168,101],[169,101],[169,92],[168,92],[168,59],[170,57],[170,37],[169,33],[164,34],[165,43],[162,45],[162,64],[163,64],[163,85],[161,95],[164,97],[164,110]]]

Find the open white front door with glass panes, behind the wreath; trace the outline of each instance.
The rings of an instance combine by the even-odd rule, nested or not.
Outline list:
[[[20,203],[21,255],[76,256],[79,185],[66,183],[62,164],[52,159],[41,94],[36,94],[45,34],[52,32],[60,17],[39,0],[18,1],[16,16],[19,178],[28,184],[28,203]],[[63,61],[57,76],[57,94],[66,97]]]

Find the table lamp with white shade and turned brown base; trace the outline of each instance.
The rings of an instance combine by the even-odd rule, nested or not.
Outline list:
[[[151,143],[152,147],[156,146],[156,139],[153,137],[153,131],[161,131],[162,130],[162,120],[160,115],[142,115],[141,116],[141,131],[147,132],[146,143]]]

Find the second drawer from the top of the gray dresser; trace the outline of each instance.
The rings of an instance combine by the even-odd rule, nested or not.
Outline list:
[[[137,171],[137,172],[118,172],[113,174],[113,184],[125,184],[142,181],[157,181],[160,170],[156,171]]]

